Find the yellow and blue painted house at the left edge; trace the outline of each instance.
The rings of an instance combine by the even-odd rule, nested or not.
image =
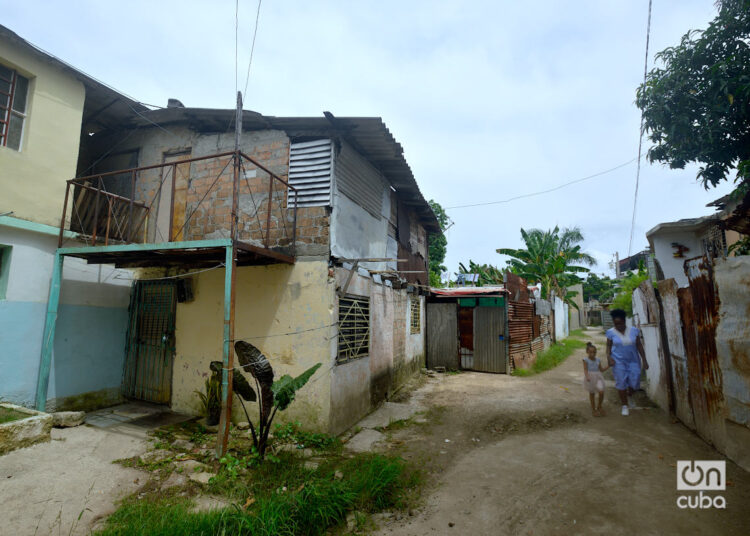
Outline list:
[[[65,181],[79,147],[143,106],[0,26],[0,399],[34,404]],[[71,260],[62,273],[49,408],[119,399],[130,283]]]

